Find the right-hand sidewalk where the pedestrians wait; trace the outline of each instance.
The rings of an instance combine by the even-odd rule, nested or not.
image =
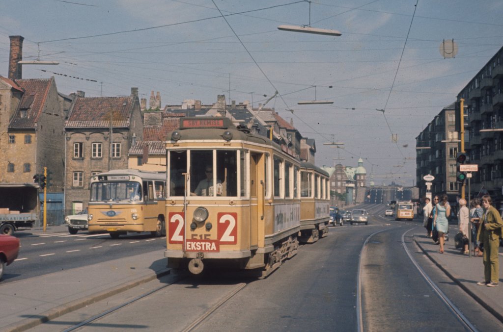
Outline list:
[[[454,245],[457,226],[449,228],[449,241],[444,246],[444,253],[432,239],[426,237],[426,231],[417,229],[414,242],[449,278],[479,302],[485,309],[503,322],[503,257],[499,257],[499,285],[497,287],[478,286],[484,279],[482,257],[461,255]],[[500,248],[501,253],[501,248]]]

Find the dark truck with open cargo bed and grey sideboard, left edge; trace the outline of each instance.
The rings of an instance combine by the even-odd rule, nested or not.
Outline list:
[[[40,215],[38,184],[0,183],[0,234],[30,229]]]

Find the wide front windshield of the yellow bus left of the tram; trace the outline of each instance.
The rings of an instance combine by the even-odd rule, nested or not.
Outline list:
[[[141,184],[138,182],[95,182],[91,184],[91,201],[140,201]]]

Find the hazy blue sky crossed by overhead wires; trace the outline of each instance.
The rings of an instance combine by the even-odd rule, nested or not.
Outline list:
[[[278,91],[266,107],[315,139],[316,165],[362,158],[376,184],[405,186],[415,137],[503,45],[501,0],[10,0],[0,13],[2,76],[20,35],[24,60],[59,62],[25,65],[23,78],[54,76],[65,94],[138,87],[147,103],[159,91],[162,106],[224,94],[258,107]],[[443,40],[457,43],[454,58]],[[298,104],[314,99],[333,104]]]

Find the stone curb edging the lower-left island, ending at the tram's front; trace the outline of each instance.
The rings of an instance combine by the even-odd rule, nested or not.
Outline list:
[[[96,303],[96,302],[101,301],[101,300],[103,300],[107,297],[110,297],[112,295],[122,293],[128,289],[134,288],[138,285],[147,283],[147,282],[152,281],[154,279],[163,277],[163,276],[168,275],[170,273],[171,273],[171,269],[169,269],[169,268],[162,269],[153,275],[141,277],[136,280],[130,281],[127,284],[119,285],[119,286],[101,291],[99,293],[96,293],[96,294],[93,294],[90,296],[82,297],[82,298],[70,301],[68,303],[58,305],[55,308],[49,309],[49,310],[41,313],[40,315],[37,315],[36,318],[26,318],[26,319],[23,319],[19,322],[7,325],[2,329],[2,331],[9,331],[9,332],[26,331],[29,328],[33,328],[37,325],[48,322],[51,319],[58,318],[64,314],[78,310],[78,309],[85,307],[87,305]]]

